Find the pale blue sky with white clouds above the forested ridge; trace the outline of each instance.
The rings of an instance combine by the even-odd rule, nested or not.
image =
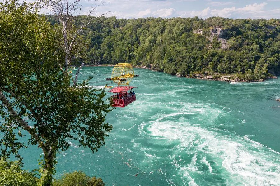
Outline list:
[[[194,17],[207,18],[277,18],[280,19],[280,0],[103,0],[104,5],[96,9],[96,15],[111,11],[106,16],[117,18],[139,17]],[[83,13],[93,4],[82,0]],[[95,5],[95,4],[94,4]]]

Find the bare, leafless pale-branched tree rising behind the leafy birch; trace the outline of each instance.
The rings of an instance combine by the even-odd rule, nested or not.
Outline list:
[[[93,3],[102,3],[99,0],[91,0]],[[68,71],[69,65],[72,64],[72,57],[74,45],[77,44],[77,37],[82,32],[83,29],[85,29],[89,24],[95,24],[96,20],[100,18],[101,16],[107,14],[103,13],[99,16],[95,16],[96,8],[99,5],[91,6],[91,9],[88,10],[88,13],[83,16],[82,23],[76,27],[73,31],[73,24],[72,21],[75,18],[82,17],[77,16],[76,14],[79,14],[81,9],[81,0],[44,0],[42,1],[42,7],[44,9],[47,9],[50,11],[50,13],[54,14],[60,24],[60,31],[62,33],[63,39],[62,39],[62,45],[65,52],[64,56],[64,71]],[[71,34],[72,33],[72,34]],[[75,78],[73,80],[73,86],[75,87],[78,80],[78,75],[82,67],[85,65],[85,63],[82,63],[75,75]]]

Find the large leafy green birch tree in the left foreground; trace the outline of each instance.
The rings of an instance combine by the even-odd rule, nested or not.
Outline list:
[[[51,185],[56,154],[70,147],[69,139],[92,152],[105,144],[111,107],[104,90],[88,81],[70,86],[72,76],[59,68],[64,51],[58,33],[34,4],[0,3],[0,35],[0,156],[22,161],[19,149],[38,146],[40,184]]]

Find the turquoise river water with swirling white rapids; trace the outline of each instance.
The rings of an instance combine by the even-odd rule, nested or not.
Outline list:
[[[112,69],[85,67],[80,80],[110,78]],[[229,83],[134,71],[137,100],[107,115],[114,129],[106,145],[92,154],[71,141],[57,155],[56,178],[82,170],[114,186],[280,185],[280,79]],[[26,169],[38,168],[40,149],[21,153]]]

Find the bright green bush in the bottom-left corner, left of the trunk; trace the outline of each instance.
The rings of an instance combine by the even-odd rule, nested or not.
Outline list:
[[[38,178],[34,172],[21,169],[19,161],[0,160],[0,185],[1,186],[35,186]]]

